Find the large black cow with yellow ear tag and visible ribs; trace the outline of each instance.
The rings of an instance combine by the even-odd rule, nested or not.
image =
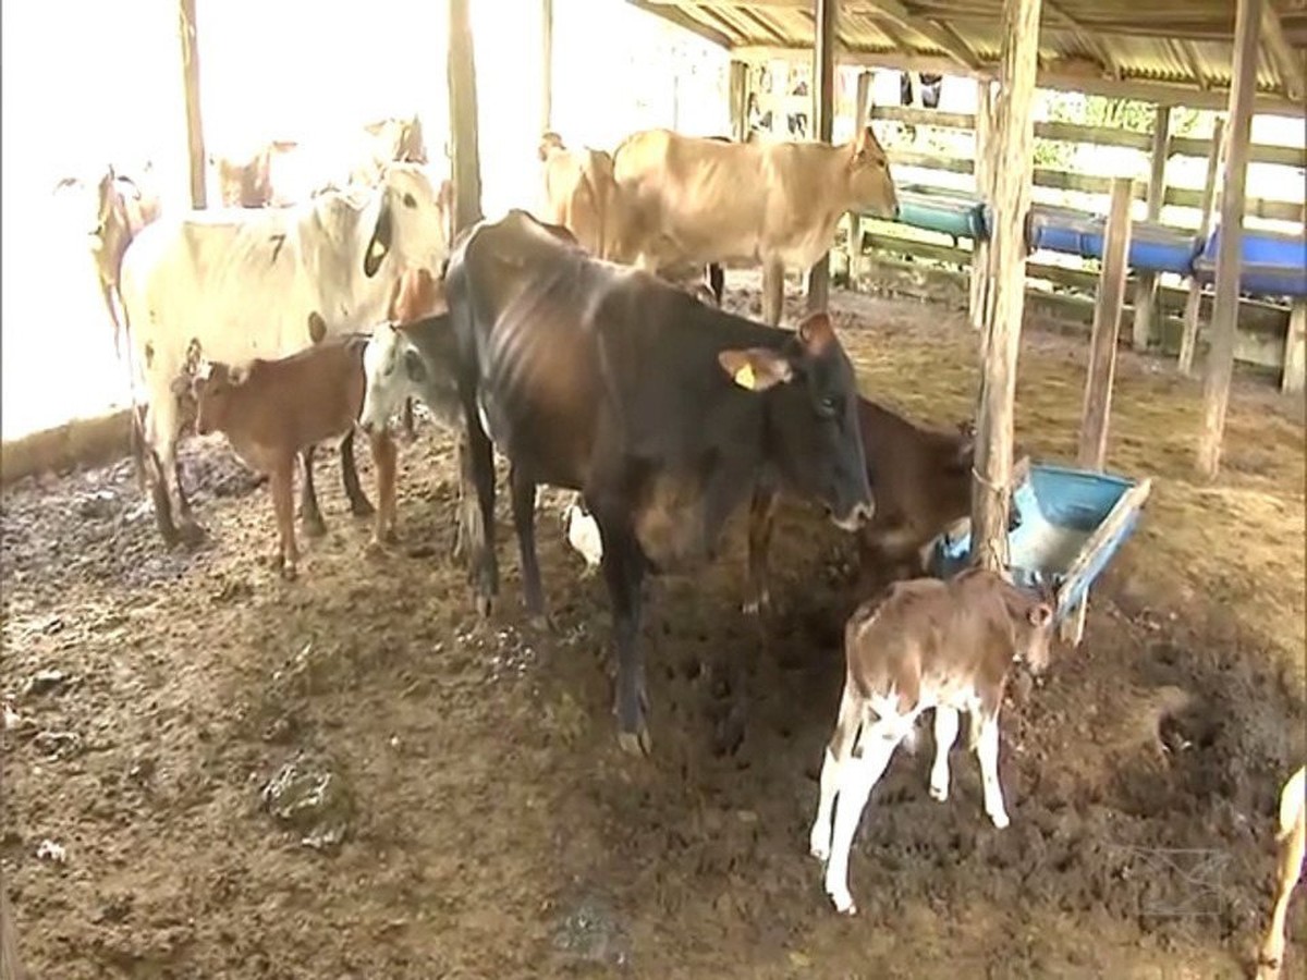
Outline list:
[[[478,608],[498,592],[491,439],[508,457],[528,612],[544,613],[537,483],[580,490],[599,524],[617,635],[618,737],[648,751],[637,649],[646,574],[711,559],[759,485],[870,516],[853,368],[825,314],[797,331],[723,312],[656,277],[591,259],[521,210],[455,246],[446,295],[459,338],[476,485],[468,544]]]

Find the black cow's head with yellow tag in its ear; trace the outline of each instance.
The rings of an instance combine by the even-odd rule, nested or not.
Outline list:
[[[782,350],[724,350],[721,367],[742,388],[770,392],[771,461],[789,486],[853,531],[873,512],[857,423],[857,384],[826,314],[804,320]]]

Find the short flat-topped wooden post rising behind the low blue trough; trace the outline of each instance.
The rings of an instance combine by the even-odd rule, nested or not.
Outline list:
[[[1103,267],[1094,298],[1094,331],[1089,341],[1089,370],[1085,376],[1085,404],[1080,417],[1080,448],[1076,463],[1081,469],[1102,472],[1107,464],[1107,422],[1112,413],[1112,380],[1116,376],[1116,338],[1125,308],[1125,276],[1129,272],[1131,201],[1134,182],[1112,180],[1112,204],[1103,242]],[[1089,595],[1080,608],[1063,621],[1061,636],[1077,645],[1085,635]]]

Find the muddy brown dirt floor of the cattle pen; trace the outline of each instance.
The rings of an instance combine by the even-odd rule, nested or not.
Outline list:
[[[961,316],[835,308],[867,393],[971,414]],[[1085,342],[1023,344],[1018,439],[1069,460]],[[1205,486],[1201,385],[1123,354],[1110,465],[1151,476],[1153,498],[1084,645],[1005,707],[1012,826],[985,819],[963,746],[950,800],[928,797],[927,734],[864,815],[855,920],[806,855],[856,598],[852,549],[814,512],[783,515],[765,642],[740,613],[738,524],[712,568],[652,589],[640,762],[617,749],[603,584],[561,497],[538,521],[555,631],[521,617],[503,491],[502,600],[478,627],[431,425],[401,449],[403,545],[380,558],[324,453],[329,532],[301,538],[290,584],[267,563],[265,490],[221,442],[184,453],[210,531],[195,553],[161,546],[125,463],[14,486],[0,860],[31,976],[1243,976],[1277,793],[1307,750],[1307,609],[1302,402],[1238,388]],[[749,725],[718,754],[732,657]],[[1303,895],[1289,955],[1307,963]]]

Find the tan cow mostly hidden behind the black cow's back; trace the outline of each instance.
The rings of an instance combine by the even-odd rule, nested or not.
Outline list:
[[[544,221],[561,225],[596,259],[613,259],[616,213],[613,158],[604,150],[570,150],[558,133],[540,141],[544,163]]]

